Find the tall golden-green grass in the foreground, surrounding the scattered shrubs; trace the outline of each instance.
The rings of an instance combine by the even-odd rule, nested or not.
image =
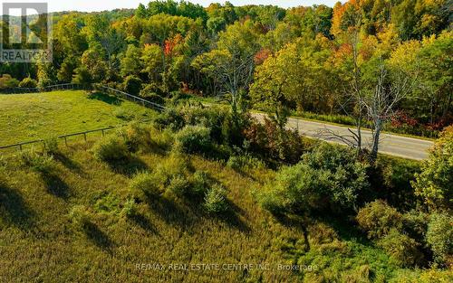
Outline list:
[[[17,156],[0,162],[0,278],[41,282],[370,282],[399,271],[389,257],[352,231],[320,216],[301,227],[275,220],[253,197],[275,172],[237,173],[223,162],[190,156],[189,167],[226,188],[231,211],[203,212],[200,203],[149,196],[133,218],[121,216],[134,171],[153,171],[169,156],[133,155],[127,170],[96,160],[83,144],[37,172]],[[90,224],[73,227],[73,208]],[[77,212],[77,211],[75,211]],[[306,237],[305,237],[306,236]],[[307,250],[309,246],[309,250]],[[137,269],[137,264],[150,264]],[[165,268],[151,269],[154,264]],[[170,270],[169,264],[219,264],[220,269]],[[263,264],[240,269],[223,264]],[[280,270],[299,265],[302,271]],[[305,267],[305,268],[304,268]],[[226,270],[232,269],[232,270]],[[58,278],[58,280],[56,280]]]

